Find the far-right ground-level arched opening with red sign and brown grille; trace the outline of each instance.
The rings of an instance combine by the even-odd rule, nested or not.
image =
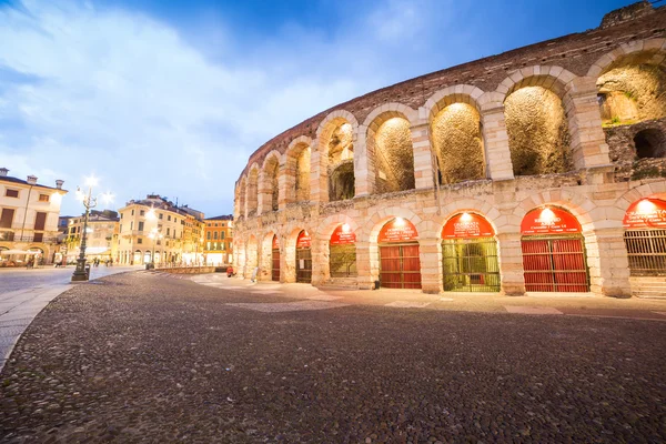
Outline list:
[[[632,276],[666,276],[666,201],[634,202],[623,225]]]

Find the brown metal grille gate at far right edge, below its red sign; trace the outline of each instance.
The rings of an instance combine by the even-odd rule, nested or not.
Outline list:
[[[666,275],[666,230],[627,230],[624,240],[632,276]]]

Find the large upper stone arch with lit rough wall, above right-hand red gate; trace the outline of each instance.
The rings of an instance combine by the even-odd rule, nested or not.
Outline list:
[[[514,71],[496,92],[504,94],[504,117],[515,175],[564,173],[573,169],[567,85],[576,77],[561,67]]]

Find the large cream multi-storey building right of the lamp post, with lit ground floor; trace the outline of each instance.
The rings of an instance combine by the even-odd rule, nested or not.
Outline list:
[[[165,265],[203,262],[203,213],[149,194],[128,202],[119,214],[119,263],[145,264],[153,258]]]

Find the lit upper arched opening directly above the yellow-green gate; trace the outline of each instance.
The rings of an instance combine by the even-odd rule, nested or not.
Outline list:
[[[468,103],[451,103],[431,122],[440,183],[485,176],[481,115]]]

